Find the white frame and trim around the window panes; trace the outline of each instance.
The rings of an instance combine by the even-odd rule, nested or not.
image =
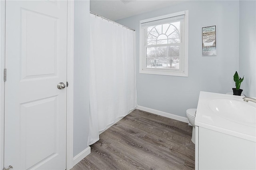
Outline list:
[[[162,20],[165,18],[171,18],[175,16],[180,16],[180,15],[184,15],[184,21],[182,21],[182,29],[180,31],[182,33],[182,50],[180,55],[180,60],[182,61],[180,64],[181,69],[174,70],[174,69],[162,69],[162,68],[161,69],[147,68],[146,67],[146,50],[145,50],[146,49],[145,48],[145,45],[146,45],[145,29],[146,28],[142,27],[142,23]],[[188,10],[140,21],[140,70],[139,70],[139,73],[188,77]]]

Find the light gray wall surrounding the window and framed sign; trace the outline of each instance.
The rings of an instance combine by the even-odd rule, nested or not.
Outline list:
[[[189,10],[188,77],[139,73],[139,21]],[[200,91],[227,93],[238,70],[239,1],[184,1],[116,22],[136,30],[138,105],[186,117]],[[217,56],[202,57],[202,27],[216,25]]]

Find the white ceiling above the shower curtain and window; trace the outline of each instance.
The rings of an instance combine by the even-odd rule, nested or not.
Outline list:
[[[115,21],[180,2],[182,0],[90,0],[90,11]]]

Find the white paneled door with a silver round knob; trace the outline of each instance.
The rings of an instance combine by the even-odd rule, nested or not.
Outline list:
[[[66,169],[67,1],[6,1],[4,167]]]

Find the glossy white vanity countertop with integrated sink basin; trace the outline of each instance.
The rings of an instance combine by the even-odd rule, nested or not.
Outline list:
[[[195,125],[256,142],[256,103],[242,98],[201,91]]]

